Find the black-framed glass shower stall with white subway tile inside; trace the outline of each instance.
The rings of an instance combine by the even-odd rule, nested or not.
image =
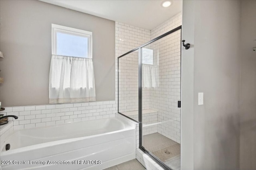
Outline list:
[[[118,113],[139,123],[139,148],[180,170],[181,26],[118,57]]]

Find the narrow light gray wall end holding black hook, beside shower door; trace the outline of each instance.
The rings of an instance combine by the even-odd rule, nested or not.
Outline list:
[[[183,0],[182,39],[190,43],[188,50],[182,48],[181,57],[181,169],[194,168],[194,27],[195,5],[192,0]]]

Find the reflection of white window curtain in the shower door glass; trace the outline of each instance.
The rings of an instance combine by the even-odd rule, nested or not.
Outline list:
[[[159,66],[142,64],[142,87],[159,87]]]

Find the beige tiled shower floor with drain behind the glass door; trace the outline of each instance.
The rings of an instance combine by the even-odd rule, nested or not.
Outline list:
[[[179,143],[160,133],[152,133],[143,136],[143,146],[173,170],[180,170]]]

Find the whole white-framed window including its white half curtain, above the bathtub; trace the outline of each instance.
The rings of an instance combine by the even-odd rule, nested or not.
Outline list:
[[[95,100],[92,32],[52,24],[50,104]]]

